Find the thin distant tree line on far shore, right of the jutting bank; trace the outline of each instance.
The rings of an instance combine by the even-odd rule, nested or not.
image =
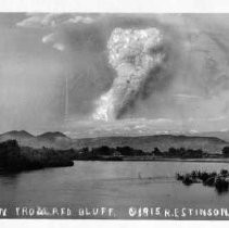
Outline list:
[[[228,159],[228,160],[227,160]],[[174,162],[221,162],[229,163],[229,148],[225,147],[221,153],[207,153],[193,149],[169,148],[168,151],[160,151],[154,148],[151,152],[144,152],[130,147],[110,148],[82,148],[77,153],[76,160],[81,161],[174,161]]]

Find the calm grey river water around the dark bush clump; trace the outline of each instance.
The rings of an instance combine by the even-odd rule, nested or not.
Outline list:
[[[221,168],[229,169],[229,164],[75,162],[73,167],[0,173],[0,207],[7,207],[8,216],[12,217],[16,217],[16,207],[20,207],[17,217],[33,217],[33,210],[40,206],[48,207],[48,217],[52,218],[56,213],[58,217],[68,218],[164,218],[164,210],[169,208],[171,212],[166,214],[166,218],[219,219],[217,212],[215,216],[195,214],[193,217],[193,214],[189,216],[188,210],[229,208],[229,192],[219,194],[215,188],[201,183],[183,186],[176,180],[175,174],[193,169],[219,172]],[[23,207],[26,208],[22,213]],[[59,210],[54,215],[53,207]],[[64,207],[62,215],[61,207]],[[114,208],[111,215],[109,207]],[[143,207],[149,211],[142,214]],[[31,215],[28,214],[29,208]],[[71,216],[67,216],[67,208]],[[174,211],[176,208],[178,212]],[[100,210],[99,214],[91,215],[92,210]],[[161,214],[156,214],[156,210],[161,210]],[[222,216],[225,218],[229,217]]]

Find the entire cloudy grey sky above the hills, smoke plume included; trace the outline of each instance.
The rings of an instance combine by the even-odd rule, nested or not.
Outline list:
[[[0,13],[0,132],[227,130],[228,28],[228,14]]]

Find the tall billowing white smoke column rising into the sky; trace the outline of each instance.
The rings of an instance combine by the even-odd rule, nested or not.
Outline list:
[[[143,89],[153,69],[164,61],[163,36],[157,28],[115,28],[107,42],[109,62],[116,71],[111,89],[101,96],[96,119],[120,118]]]

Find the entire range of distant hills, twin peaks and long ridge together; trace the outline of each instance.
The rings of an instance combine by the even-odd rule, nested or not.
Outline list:
[[[177,136],[177,135],[155,135],[155,136],[139,136],[139,137],[101,137],[101,138],[84,138],[71,139],[62,132],[44,132],[39,136],[21,131],[9,131],[0,135],[0,141],[9,139],[16,139],[21,145],[28,145],[33,148],[55,148],[55,149],[80,149],[80,148],[96,148],[107,145],[116,147],[131,147],[140,149],[145,152],[158,148],[161,151],[167,151],[169,148],[186,148],[186,149],[202,149],[209,153],[221,153],[221,149],[229,145],[226,140],[212,136]]]

